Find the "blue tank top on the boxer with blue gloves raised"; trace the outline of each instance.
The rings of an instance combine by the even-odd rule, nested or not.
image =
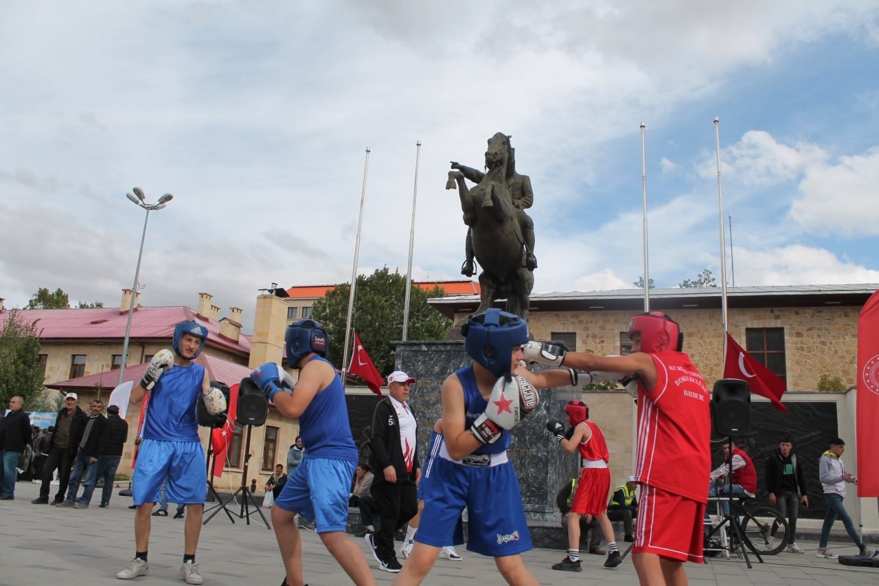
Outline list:
[[[323,360],[332,366],[330,361],[320,356],[314,356],[311,360]],[[338,374],[329,386],[311,399],[309,407],[299,418],[299,426],[302,443],[305,444],[305,459],[336,458],[357,462],[357,447],[348,422],[345,388]]]

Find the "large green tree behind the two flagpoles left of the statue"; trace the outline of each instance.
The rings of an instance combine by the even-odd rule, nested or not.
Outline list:
[[[330,336],[330,355],[333,364],[342,368],[345,350],[345,321],[348,315],[350,286],[336,286],[318,299],[312,310],[312,318]],[[425,291],[412,285],[409,302],[409,340],[442,340],[452,320],[427,304],[431,297],[444,297],[439,287]],[[372,275],[357,277],[354,291],[352,326],[360,337],[363,348],[375,363],[382,376],[394,370],[394,351],[391,341],[403,338],[403,305],[406,298],[406,277],[388,267],[376,270]],[[353,348],[353,335],[352,335]],[[352,349],[349,348],[349,354]],[[351,356],[348,356],[350,359]]]

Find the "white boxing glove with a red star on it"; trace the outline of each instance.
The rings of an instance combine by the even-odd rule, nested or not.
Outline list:
[[[470,426],[470,432],[482,443],[495,443],[504,429],[513,429],[534,412],[539,401],[537,390],[525,377],[498,378],[485,412]]]

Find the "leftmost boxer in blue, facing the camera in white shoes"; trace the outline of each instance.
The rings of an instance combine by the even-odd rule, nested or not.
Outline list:
[[[171,350],[160,350],[147,367],[141,382],[134,385],[130,401],[139,404],[149,391],[143,418],[142,442],[134,465],[134,559],[117,578],[127,580],[145,575],[151,529],[149,512],[159,501],[159,488],[168,477],[168,500],[186,506],[184,555],[180,575],[187,584],[200,584],[195,561],[199,545],[201,516],[207,482],[205,451],[199,438],[196,404],[210,387],[207,371],[193,360],[207,341],[207,327],[184,321],[174,327]]]

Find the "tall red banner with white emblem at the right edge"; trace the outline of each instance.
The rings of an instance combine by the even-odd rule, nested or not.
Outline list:
[[[858,496],[879,496],[879,291],[858,318]]]

